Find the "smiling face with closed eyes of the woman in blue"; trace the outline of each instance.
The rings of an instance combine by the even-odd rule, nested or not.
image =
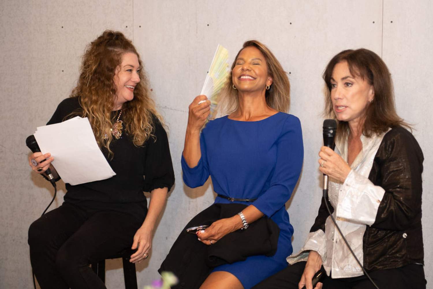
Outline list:
[[[238,91],[265,91],[272,84],[268,75],[265,56],[254,46],[248,46],[239,53],[232,71],[232,81]]]

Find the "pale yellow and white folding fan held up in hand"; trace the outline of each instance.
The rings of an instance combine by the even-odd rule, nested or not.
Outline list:
[[[206,95],[207,99],[210,100],[211,114],[216,109],[216,105],[218,104],[217,96],[224,87],[224,84],[226,84],[227,77],[229,76],[228,59],[229,52],[227,49],[218,45],[200,93]]]

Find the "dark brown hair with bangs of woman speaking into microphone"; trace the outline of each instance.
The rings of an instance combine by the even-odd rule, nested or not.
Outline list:
[[[359,76],[367,80],[374,88],[374,100],[367,104],[366,117],[362,133],[370,137],[373,134],[386,132],[390,127],[410,125],[397,115],[394,104],[394,90],[391,74],[385,62],[368,49],[343,50],[335,55],[326,65],[323,72],[323,80],[326,84],[325,114],[334,118],[333,104],[331,100],[331,78],[334,67],[339,62],[347,62],[352,76]],[[337,120],[337,137],[346,137],[349,133],[349,123]]]

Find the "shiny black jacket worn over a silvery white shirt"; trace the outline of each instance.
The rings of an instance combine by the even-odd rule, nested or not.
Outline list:
[[[424,263],[421,228],[423,152],[414,136],[402,127],[385,134],[368,179],[385,189],[375,223],[363,237],[364,267],[368,271]],[[329,201],[328,204],[330,205]],[[332,206],[330,207],[333,211]],[[310,232],[325,231],[329,216],[325,203]]]

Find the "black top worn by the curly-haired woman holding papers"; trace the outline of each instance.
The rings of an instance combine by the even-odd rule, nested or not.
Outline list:
[[[48,124],[60,123],[74,117],[78,110],[78,97],[69,97],[57,107]],[[117,114],[113,111],[113,114]],[[109,179],[87,182],[80,185],[66,184],[65,202],[83,206],[87,209],[121,211],[133,214],[144,220],[147,213],[147,200],[144,192],[155,188],[168,188],[174,184],[173,165],[167,134],[159,120],[153,117],[154,130],[144,145],[137,147],[125,129],[120,139],[110,143],[112,158],[108,150],[101,151],[116,175]],[[80,157],[79,155],[77,157]]]

